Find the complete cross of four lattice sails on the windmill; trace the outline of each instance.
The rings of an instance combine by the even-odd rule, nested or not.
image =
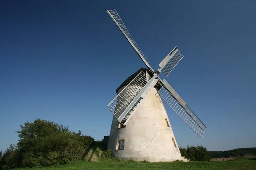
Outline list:
[[[147,73],[140,72],[109,104],[108,108],[116,117],[117,121],[126,125],[131,116],[140,105],[140,101],[147,96],[148,92],[157,82],[160,82],[162,87],[159,90],[160,96],[166,101],[166,103],[177,113],[180,118],[186,122],[192,130],[195,131],[201,138],[203,138],[204,130],[206,126],[196,116],[196,114],[189,108],[186,102],[175,92],[175,90],[166,82],[158,77],[161,71],[165,77],[168,77],[173,68],[183,58],[183,55],[178,50],[177,46],[163,59],[159,64],[160,68],[154,72],[153,68],[148,64],[148,60],[132,38],[130,32],[126,28],[122,19],[116,10],[106,10],[113,22],[143,60],[145,65],[153,76],[149,77]],[[127,82],[128,83],[128,82]],[[125,120],[125,122],[123,121]]]

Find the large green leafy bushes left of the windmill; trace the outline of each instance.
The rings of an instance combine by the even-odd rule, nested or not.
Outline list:
[[[5,152],[0,151],[0,170],[15,167],[49,166],[82,160],[87,148],[94,142],[69,130],[69,127],[36,119],[20,125],[19,142],[11,144]]]

